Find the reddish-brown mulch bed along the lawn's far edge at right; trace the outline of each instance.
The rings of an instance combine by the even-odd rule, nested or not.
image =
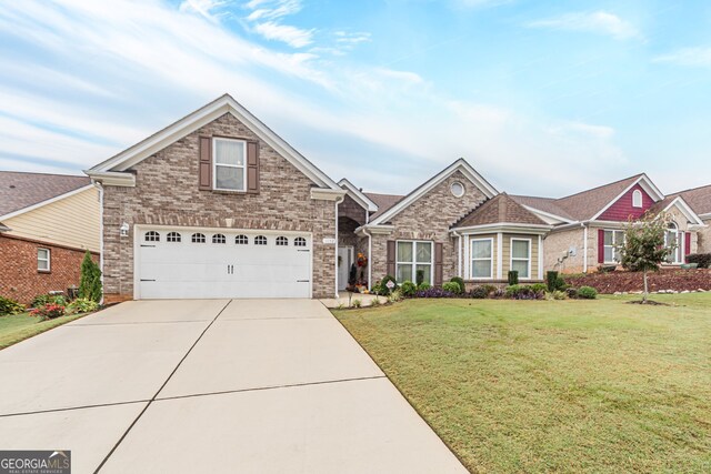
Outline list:
[[[599,293],[632,293],[644,289],[642,273],[615,271],[585,275],[562,275],[573,286],[592,286]],[[649,274],[650,292],[711,291],[711,270],[661,270]]]

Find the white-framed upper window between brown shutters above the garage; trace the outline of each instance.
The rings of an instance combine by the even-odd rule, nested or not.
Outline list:
[[[247,142],[213,139],[212,189],[247,191]]]

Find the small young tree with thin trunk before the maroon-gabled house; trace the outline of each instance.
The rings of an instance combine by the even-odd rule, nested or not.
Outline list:
[[[644,214],[640,220],[627,224],[624,243],[619,245],[620,263],[632,272],[642,272],[644,278],[644,292],[642,303],[649,297],[649,272],[659,271],[661,265],[673,252],[675,242],[664,245],[664,233],[669,228],[670,219],[667,214]]]

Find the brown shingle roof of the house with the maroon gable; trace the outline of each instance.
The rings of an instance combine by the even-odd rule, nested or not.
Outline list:
[[[590,221],[602,214],[635,184],[640,184],[654,201],[660,201],[664,198],[647,174],[640,173],[564,198],[548,199],[517,195],[513,199],[522,205],[565,218],[570,221]]]

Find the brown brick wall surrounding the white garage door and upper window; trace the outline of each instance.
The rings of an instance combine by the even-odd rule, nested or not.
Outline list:
[[[200,191],[199,137],[259,141],[260,193]],[[133,297],[136,224],[190,225],[311,232],[313,297],[331,297],[336,285],[336,204],[311,199],[313,182],[232,114],[183,137],[131,168],[136,188],[106,186],[103,194],[103,272],[107,302]],[[119,235],[122,222],[131,225]]]

